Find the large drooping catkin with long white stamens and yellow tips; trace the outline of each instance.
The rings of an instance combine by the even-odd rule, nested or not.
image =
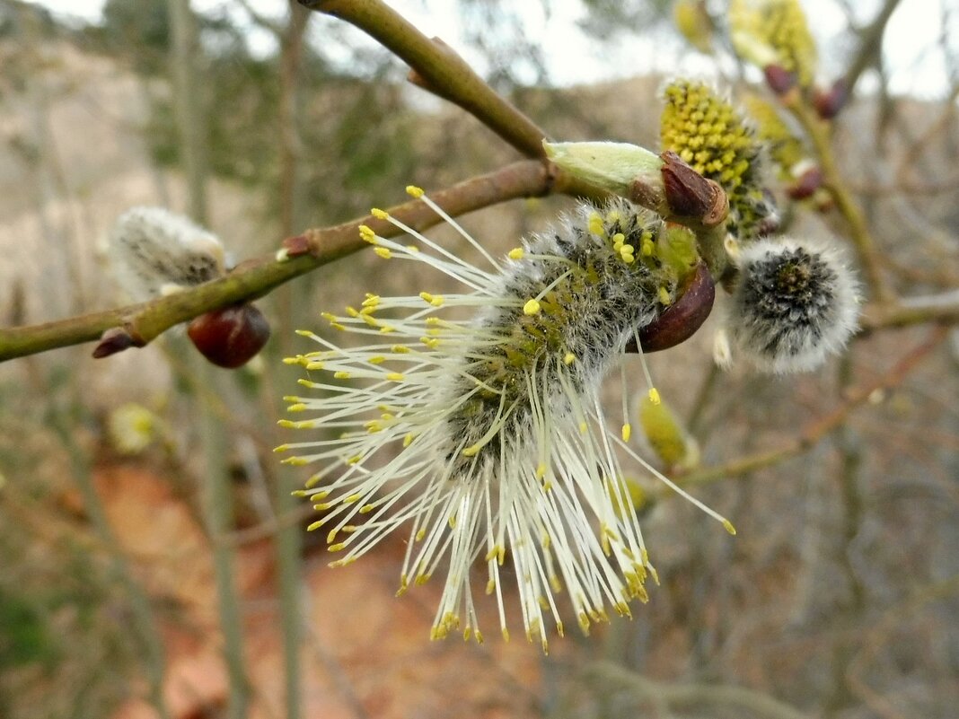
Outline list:
[[[563,633],[559,591],[584,631],[606,618],[607,605],[628,614],[627,602],[645,598],[655,572],[621,457],[675,485],[630,448],[625,401],[623,424],[609,428],[600,381],[638,328],[674,301],[692,267],[679,247],[691,244],[690,234],[625,200],[599,210],[583,205],[501,261],[444,215],[483,253],[491,266],[484,270],[374,214],[418,241],[400,244],[364,228],[377,254],[424,263],[470,291],[368,294],[360,310],[325,315],[339,331],[373,338],[360,348],[301,333],[323,349],[288,361],[323,372],[327,379],[301,383],[324,394],[288,398],[292,411],[318,416],[281,424],[340,433],[278,451],[299,452],[286,460],[292,464],[324,465],[302,494],[325,513],[313,528],[331,527],[329,548],[343,552],[334,564],[358,559],[411,521],[400,591],[449,559],[434,638],[461,628],[465,638],[481,639],[471,576],[477,560],[486,565],[504,636],[507,557],[526,636],[544,649],[547,617]],[[451,308],[472,317],[456,319]],[[658,398],[651,383],[649,393]]]

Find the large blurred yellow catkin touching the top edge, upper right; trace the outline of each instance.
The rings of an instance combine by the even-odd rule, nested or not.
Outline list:
[[[732,0],[728,17],[741,58],[760,67],[779,65],[803,87],[812,84],[816,44],[798,0]]]

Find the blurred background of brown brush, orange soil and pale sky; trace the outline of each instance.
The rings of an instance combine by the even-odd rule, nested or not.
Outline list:
[[[762,92],[724,2],[692,4],[698,35],[665,1],[390,5],[560,139],[656,147],[677,74]],[[803,5],[821,81],[856,69],[833,143],[884,273],[902,296],[956,289],[959,6]],[[237,264],[517,159],[406,71],[295,2],[0,0],[0,326],[122,304],[105,236],[132,205],[191,216]],[[569,206],[463,223],[502,252]],[[784,209],[790,232],[841,233],[814,202]],[[303,531],[312,510],[290,491],[307,473],[271,452],[291,441],[275,422],[298,376],[280,359],[306,351],[293,329],[364,290],[422,289],[366,254],[261,300],[272,337],[240,370],[177,332],[0,364],[0,717],[956,716],[954,330],[877,332],[788,379],[715,370],[714,319],[651,356],[702,466],[728,468],[690,489],[738,536],[657,494],[643,532],[662,586],[544,657],[522,638],[431,642],[441,587],[394,597],[403,537],[331,569]]]

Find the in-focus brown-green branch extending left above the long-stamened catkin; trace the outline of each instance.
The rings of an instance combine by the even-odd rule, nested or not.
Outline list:
[[[456,216],[517,197],[570,194],[574,187],[573,180],[555,172],[548,163],[525,160],[464,180],[431,193],[430,197],[450,215]],[[440,221],[420,200],[405,202],[388,212],[417,230]],[[262,297],[294,277],[368,246],[360,239],[358,228],[361,224],[369,225],[382,237],[400,234],[394,225],[372,216],[307,230],[285,241],[284,244],[291,249],[285,260],[276,256],[250,260],[219,279],[150,302],[39,325],[0,329],[0,361],[94,341],[114,328],[122,328],[129,337],[128,346],[144,346],[180,322],[220,307]]]

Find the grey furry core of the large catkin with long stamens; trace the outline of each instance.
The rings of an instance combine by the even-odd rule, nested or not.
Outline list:
[[[619,211],[621,220],[616,227],[606,223],[607,238],[598,238],[588,229],[589,218],[596,212],[591,205],[581,206],[572,217],[565,217],[555,226],[533,235],[525,242],[524,258],[509,262],[503,272],[501,286],[493,291],[495,296],[516,298],[519,306],[487,309],[476,320],[478,329],[503,336],[503,345],[508,345],[509,337],[524,320],[521,308],[526,299],[537,296],[571,266],[577,269],[593,267],[596,270],[596,282],[576,283],[578,277],[573,275],[556,286],[555,290],[564,306],[575,308],[574,313],[565,314],[562,320],[541,315],[541,321],[552,325],[550,329],[562,337],[560,346],[555,349],[541,342],[532,362],[535,367],[533,377],[539,386],[541,399],[551,404],[554,414],[564,415],[571,411],[558,379],[560,372],[577,392],[584,387],[596,386],[621,358],[626,343],[636,330],[653,321],[662,310],[657,300],[659,284],[654,273],[640,261],[630,265],[622,262],[608,239],[621,232],[626,244],[630,244],[630,240],[638,238],[643,230],[650,230],[653,237],[657,238],[664,226],[662,220],[626,200],[616,200],[598,212],[605,217],[610,210]],[[639,245],[638,239],[635,243]],[[537,255],[562,259],[541,259]],[[564,259],[568,262],[564,262]],[[496,352],[503,352],[502,347],[486,348],[478,354]],[[576,358],[571,365],[562,362],[567,352],[573,353]],[[485,368],[484,360],[474,361],[470,358],[471,354],[467,348],[463,367],[466,375],[493,386],[502,384],[504,392],[514,393],[509,401],[515,401],[516,406],[505,428],[499,433],[504,441],[509,442],[511,437],[522,435],[523,432],[518,430],[530,423],[531,406],[526,386],[528,370],[514,369],[506,378],[493,377]],[[451,397],[463,396],[473,383],[472,379],[458,378],[450,390]],[[465,444],[478,441],[495,421],[499,411],[499,398],[478,399],[451,417],[448,428],[451,458],[464,437]],[[479,459],[496,461],[500,452],[499,444],[499,438],[491,441],[483,448]]]

